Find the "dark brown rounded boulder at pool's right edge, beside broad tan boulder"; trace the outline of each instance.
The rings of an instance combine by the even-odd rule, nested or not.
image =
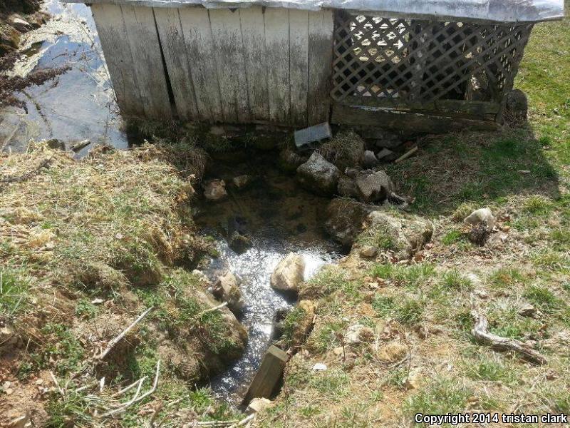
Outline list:
[[[368,214],[378,209],[353,199],[333,199],[326,208],[325,229],[338,243],[351,245],[361,232]]]

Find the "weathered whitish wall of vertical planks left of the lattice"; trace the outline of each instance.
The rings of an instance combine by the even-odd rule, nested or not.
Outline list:
[[[188,121],[328,120],[332,11],[91,8],[123,114],[168,118],[173,101]]]

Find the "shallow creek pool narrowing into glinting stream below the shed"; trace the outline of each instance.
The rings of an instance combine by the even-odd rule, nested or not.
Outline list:
[[[289,252],[299,253],[304,256],[308,279],[319,267],[338,258],[340,250],[321,228],[328,199],[299,188],[293,178],[279,172],[274,159],[274,153],[255,153],[249,160],[225,165],[212,161],[216,178],[231,183],[232,177],[247,174],[252,183],[244,190],[228,185],[228,198],[202,203],[196,216],[197,224],[217,238],[220,252],[205,273],[213,280],[231,270],[241,280],[246,304],[239,317],[249,332],[246,352],[227,372],[212,379],[214,392],[234,404],[239,404],[271,342],[276,312],[294,303],[269,285],[274,267]],[[235,219],[253,243],[242,254],[229,248],[226,239],[229,223]]]

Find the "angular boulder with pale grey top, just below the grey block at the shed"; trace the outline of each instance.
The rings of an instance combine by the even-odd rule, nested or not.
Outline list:
[[[341,172],[323,156],[314,152],[309,161],[297,168],[297,180],[308,190],[322,195],[333,195]]]

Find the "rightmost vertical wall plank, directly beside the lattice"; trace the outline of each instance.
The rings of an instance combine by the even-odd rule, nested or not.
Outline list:
[[[333,11],[309,12],[309,126],[328,121],[333,62]]]

